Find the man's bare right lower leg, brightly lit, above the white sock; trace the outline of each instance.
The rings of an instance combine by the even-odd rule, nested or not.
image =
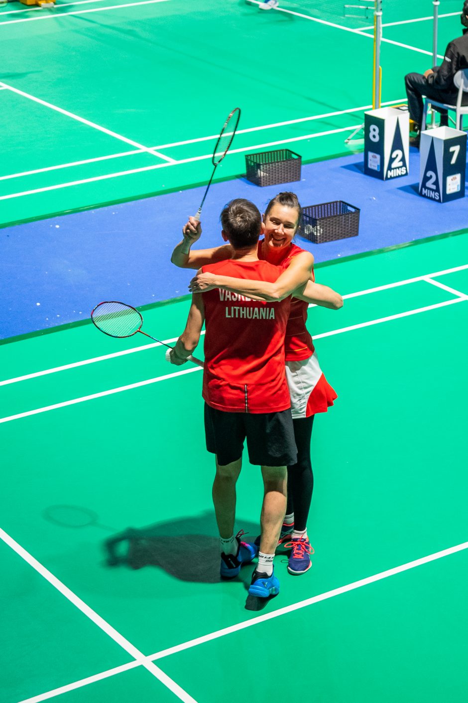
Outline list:
[[[286,512],[286,466],[262,466],[262,477],[265,494],[260,515],[260,552],[274,554]]]

